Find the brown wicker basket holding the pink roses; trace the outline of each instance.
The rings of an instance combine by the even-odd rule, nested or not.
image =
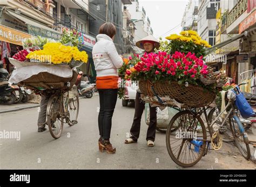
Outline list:
[[[215,93],[205,91],[196,85],[179,85],[178,82],[157,82],[152,84],[150,81],[139,81],[139,89],[146,96],[155,96],[154,91],[159,97],[169,96],[187,107],[203,107],[211,104],[215,98]]]

